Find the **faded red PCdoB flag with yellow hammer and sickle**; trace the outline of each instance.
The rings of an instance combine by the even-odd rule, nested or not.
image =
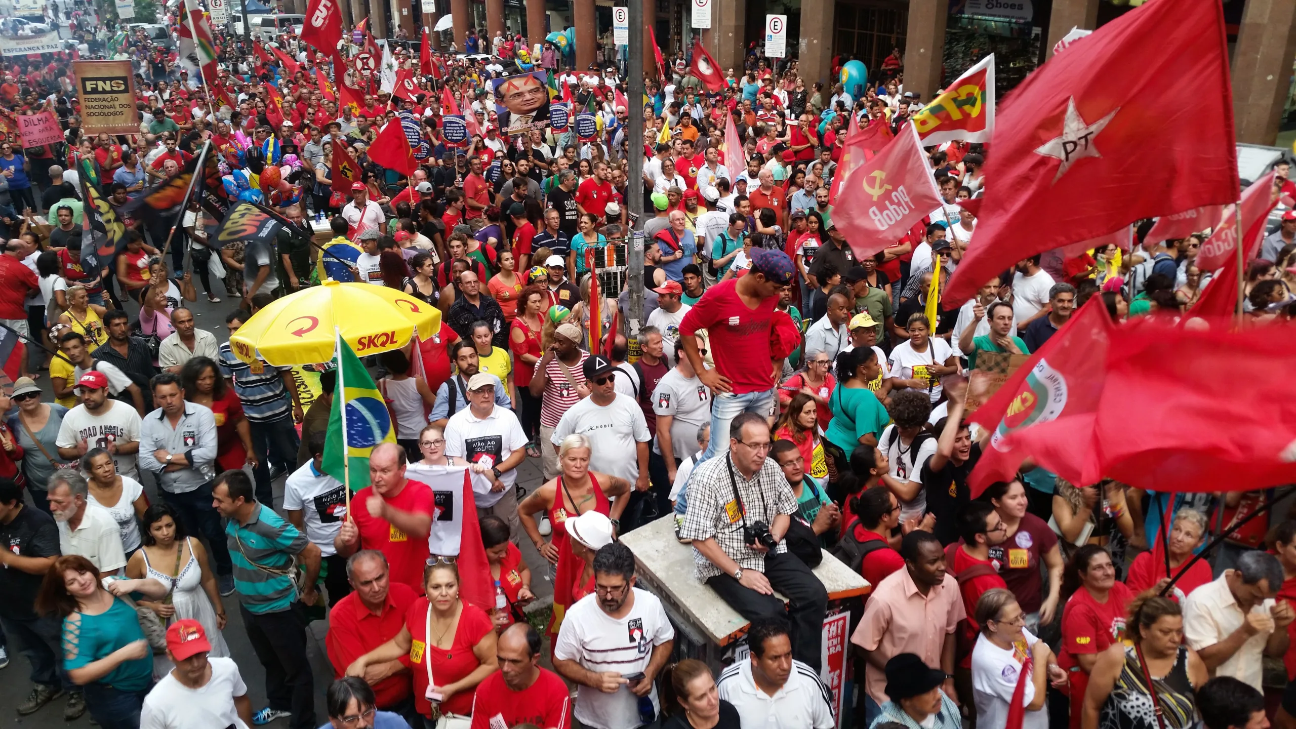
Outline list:
[[[846,236],[855,261],[894,244],[910,226],[941,206],[941,191],[914,125],[905,125],[876,157],[848,173],[841,192],[832,222]]]

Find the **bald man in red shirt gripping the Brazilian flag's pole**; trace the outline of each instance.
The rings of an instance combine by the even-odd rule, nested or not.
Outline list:
[[[351,512],[342,523],[333,546],[340,556],[376,549],[388,558],[393,582],[422,594],[422,569],[428,563],[428,533],[432,531],[432,488],[406,479],[404,449],[380,444],[369,454],[369,483],[351,497]]]

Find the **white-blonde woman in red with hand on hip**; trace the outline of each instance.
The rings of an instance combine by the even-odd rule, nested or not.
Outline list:
[[[597,511],[609,516],[613,525],[618,525],[617,519],[621,518],[629,501],[627,498],[616,498],[630,493],[629,481],[590,471],[590,440],[579,433],[564,438],[562,445],[559,446],[559,464],[562,473],[546,481],[517,506],[517,516],[522,521],[522,528],[526,529],[526,536],[531,538],[531,544],[535,545],[540,556],[556,566],[553,619],[547,630],[551,645],[552,641],[557,639],[566,608],[594,590],[592,573],[583,584],[577,584],[582,572],[586,572],[586,563],[572,550],[572,544],[568,540],[568,521],[588,511]],[[616,498],[614,502],[613,498]],[[548,542],[540,536],[540,528],[535,521],[535,514],[540,511],[548,516],[548,523],[552,524]]]

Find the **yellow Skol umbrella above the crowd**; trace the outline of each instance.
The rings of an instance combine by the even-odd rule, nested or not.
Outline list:
[[[441,311],[393,288],[328,279],[257,311],[229,337],[229,346],[249,363],[257,354],[276,367],[328,362],[337,342],[334,327],[364,357],[400,349],[416,331],[420,339],[432,337],[441,331]]]

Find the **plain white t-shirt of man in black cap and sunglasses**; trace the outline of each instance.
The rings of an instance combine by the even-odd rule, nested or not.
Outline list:
[[[446,429],[450,429],[448,425]],[[652,433],[648,432],[648,422],[635,398],[616,393],[616,400],[607,407],[595,403],[590,397],[577,402],[562,414],[557,428],[553,428],[555,448],[572,433],[583,433],[590,438],[591,471],[619,476],[631,484],[639,479],[635,444],[651,441]],[[446,453],[455,455],[448,442]]]

